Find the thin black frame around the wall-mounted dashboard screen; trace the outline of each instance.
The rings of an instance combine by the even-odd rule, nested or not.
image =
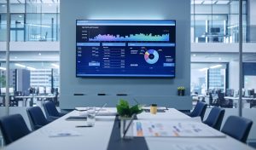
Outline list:
[[[81,19],[79,19],[79,20],[81,20]],[[78,21],[79,20],[76,20],[76,24],[75,24],[75,26],[76,26],[76,43],[77,43],[77,23],[78,23]],[[108,21],[108,20],[107,20]],[[133,21],[133,20],[127,20],[127,21]],[[137,20],[134,20],[134,21],[137,21]],[[170,76],[170,77],[167,77],[167,76],[131,76],[131,75],[129,75],[129,74],[127,74],[127,76],[114,76],[114,75],[112,75],[112,76],[107,76],[107,75],[102,75],[102,76],[95,76],[95,75],[90,75],[90,74],[88,74],[88,75],[86,75],[86,76],[78,76],[78,73],[77,73],[77,46],[76,46],[76,44],[75,44],[75,49],[76,49],[76,61],[75,61],[75,66],[76,66],[76,78],[176,78],[176,63],[177,63],[177,61],[176,61],[176,58],[177,58],[177,53],[176,53],[176,50],[177,50],[177,29],[176,29],[176,26],[177,26],[177,20],[142,20],[142,21],[174,21],[174,23],[175,23],[175,26],[174,26],[174,28],[175,28],[175,46],[174,46],[174,48],[175,48],[175,52],[174,52],[174,54],[175,54],[175,61],[174,61],[174,63],[175,63],[175,66],[174,66],[174,76]]]

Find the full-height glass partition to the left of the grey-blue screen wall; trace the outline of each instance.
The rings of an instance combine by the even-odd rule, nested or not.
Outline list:
[[[49,49],[47,46],[38,46],[38,43],[52,45],[52,42],[59,42],[59,4],[59,0],[10,1],[9,106],[11,107],[29,107],[37,104],[35,100],[39,98],[30,98],[27,104],[24,104],[25,99],[17,98],[24,95],[43,97],[49,95],[52,97],[50,101],[57,98],[60,77],[59,47]],[[1,97],[4,97],[6,92],[6,8],[6,1],[0,1],[0,93],[3,95]],[[34,46],[29,46],[32,44]],[[0,106],[4,106],[1,100]]]

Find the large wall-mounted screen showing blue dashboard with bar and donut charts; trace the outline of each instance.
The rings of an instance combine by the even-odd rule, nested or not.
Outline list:
[[[175,77],[175,20],[77,20],[77,77]]]

